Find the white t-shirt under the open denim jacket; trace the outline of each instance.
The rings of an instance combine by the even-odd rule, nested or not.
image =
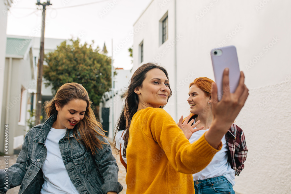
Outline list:
[[[41,194],[79,194],[68,175],[58,145],[59,140],[65,136],[66,130],[51,128],[45,140],[47,157],[41,167],[45,179],[40,190]]]

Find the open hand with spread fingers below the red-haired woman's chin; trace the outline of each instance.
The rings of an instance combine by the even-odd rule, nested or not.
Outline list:
[[[195,128],[199,123],[200,120],[197,121],[196,123],[193,124],[194,119],[192,119],[189,123],[189,119],[191,118],[191,116],[189,115],[183,122],[183,116],[180,118],[178,126],[180,127],[180,129],[183,131],[184,135],[186,136],[186,138],[189,140],[190,137],[192,136],[193,133],[195,133],[196,131],[199,131],[201,129],[204,128],[204,126],[199,127],[197,129],[193,129]],[[183,123],[182,123],[183,122]],[[192,125],[193,124],[193,125]]]

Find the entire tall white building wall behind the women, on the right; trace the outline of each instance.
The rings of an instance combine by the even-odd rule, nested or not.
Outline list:
[[[291,124],[288,97],[291,94],[290,1],[177,1],[177,87],[173,88],[174,52],[157,46],[158,21],[168,10],[169,40],[173,40],[175,1],[154,0],[134,24],[144,27],[134,35],[133,71],[146,62],[158,62],[169,73],[178,104],[165,107],[172,116],[188,115],[189,83],[197,77],[214,79],[210,50],[235,45],[240,69],[246,76],[249,98],[236,118],[246,136],[249,154],[245,169],[236,177],[235,191],[248,193],[290,193]],[[139,63],[143,40],[144,62]],[[167,44],[166,41],[164,44]],[[156,61],[155,61],[156,59]],[[159,60],[157,60],[159,59]],[[176,121],[177,118],[174,118]]]

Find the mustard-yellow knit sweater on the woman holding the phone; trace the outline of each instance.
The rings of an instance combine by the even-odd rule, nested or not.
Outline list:
[[[129,129],[126,193],[194,193],[192,174],[205,168],[219,149],[204,135],[190,144],[162,108],[139,110]]]

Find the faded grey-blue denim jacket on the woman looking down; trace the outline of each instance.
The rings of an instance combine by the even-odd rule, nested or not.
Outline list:
[[[41,166],[47,156],[45,140],[55,120],[56,114],[44,124],[29,130],[16,163],[9,167],[9,172],[0,170],[0,193],[6,193],[7,188],[18,185],[21,185],[19,194],[40,193],[44,183]],[[108,143],[102,136],[98,138]],[[109,191],[119,193],[122,190],[123,186],[117,178],[118,166],[109,143],[103,144],[103,149],[98,149],[93,156],[91,151],[74,138],[72,130],[69,130],[69,137],[63,137],[58,144],[65,168],[80,194],[101,194]],[[5,185],[6,174],[9,181]]]

